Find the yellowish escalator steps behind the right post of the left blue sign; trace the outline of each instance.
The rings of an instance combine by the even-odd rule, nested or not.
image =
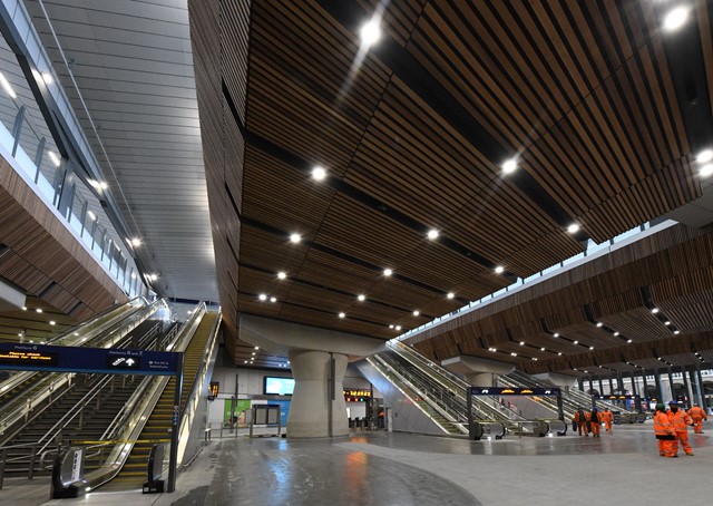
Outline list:
[[[182,412],[185,409],[198,369],[205,359],[206,344],[208,344],[208,340],[214,335],[213,331],[215,330],[218,319],[218,313],[206,312],[193,339],[184,351],[183,390],[180,398]],[[165,441],[170,438],[174,389],[175,378],[170,377],[137,438],[140,442],[133,445],[121,470],[111,481],[101,485],[98,492],[105,493],[141,488],[144,481],[146,481],[147,463],[154,442],[158,440]]]

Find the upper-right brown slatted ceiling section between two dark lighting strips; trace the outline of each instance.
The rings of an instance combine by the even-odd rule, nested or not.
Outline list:
[[[409,46],[466,110],[528,149],[522,164],[572,216],[596,214],[690,150],[652,7],[617,3],[600,12],[595,2],[430,2]],[[604,19],[621,46],[606,47]],[[563,40],[559,29],[579,37]],[[603,241],[638,216],[626,218],[583,222]]]

